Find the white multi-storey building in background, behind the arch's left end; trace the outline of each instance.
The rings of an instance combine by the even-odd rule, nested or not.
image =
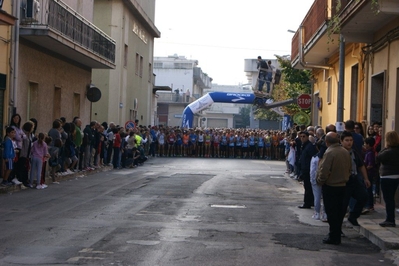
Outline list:
[[[204,89],[212,87],[212,78],[198,67],[197,60],[184,56],[154,57],[156,86],[168,86],[170,92],[158,91],[158,124],[181,126],[184,108],[204,95]],[[193,126],[202,126],[202,112],[196,114]]]

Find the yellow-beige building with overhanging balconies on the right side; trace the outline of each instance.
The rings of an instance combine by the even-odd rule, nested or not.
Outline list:
[[[293,65],[313,73],[312,123],[342,116],[399,130],[399,2],[335,2],[315,0],[292,41]]]

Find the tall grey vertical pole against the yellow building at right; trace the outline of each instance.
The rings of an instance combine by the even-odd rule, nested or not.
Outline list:
[[[344,122],[344,85],[345,85],[345,38],[339,39],[339,83],[337,102],[337,122]]]

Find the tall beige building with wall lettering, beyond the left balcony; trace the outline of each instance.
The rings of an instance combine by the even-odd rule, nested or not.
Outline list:
[[[155,0],[95,0],[94,23],[116,40],[116,68],[93,71],[92,82],[101,90],[92,117],[124,125],[129,120],[154,124],[153,93]]]

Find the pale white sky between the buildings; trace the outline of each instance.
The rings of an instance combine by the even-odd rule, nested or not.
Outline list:
[[[154,56],[198,60],[213,84],[247,83],[244,59],[289,55],[314,0],[156,0]]]

